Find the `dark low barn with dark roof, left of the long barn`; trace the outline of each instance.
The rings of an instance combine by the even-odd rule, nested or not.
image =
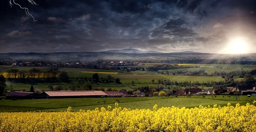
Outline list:
[[[6,95],[5,99],[35,99],[39,97],[40,95],[32,92],[11,91]]]

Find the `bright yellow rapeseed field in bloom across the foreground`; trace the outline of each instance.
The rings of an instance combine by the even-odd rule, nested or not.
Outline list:
[[[254,101],[255,103],[255,101]],[[1,132],[255,132],[256,107],[153,107],[130,110],[102,107],[94,111],[0,113]]]

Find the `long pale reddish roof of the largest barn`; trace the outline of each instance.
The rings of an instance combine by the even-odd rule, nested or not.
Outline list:
[[[103,91],[45,91],[49,96],[92,96],[107,95]]]

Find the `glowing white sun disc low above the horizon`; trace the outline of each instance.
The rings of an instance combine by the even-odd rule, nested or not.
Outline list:
[[[248,53],[248,45],[241,38],[232,40],[225,48],[225,52],[229,54],[245,54]]]

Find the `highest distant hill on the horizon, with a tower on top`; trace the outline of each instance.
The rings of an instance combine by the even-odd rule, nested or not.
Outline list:
[[[157,51],[142,51],[138,49],[120,49],[120,50],[107,50],[102,52],[108,52],[108,53],[128,53],[128,54],[145,54],[145,53],[162,53]]]

